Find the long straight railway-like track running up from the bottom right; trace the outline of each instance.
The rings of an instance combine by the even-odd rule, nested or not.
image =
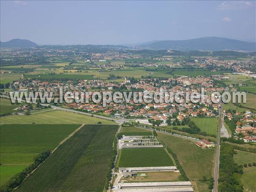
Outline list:
[[[216,144],[216,156],[215,156],[215,166],[214,166],[214,183],[212,192],[218,192],[218,172],[219,172],[219,159],[220,159],[220,143],[221,143],[221,127],[222,127],[222,111],[223,103],[219,109],[219,120],[218,120],[218,135],[217,135],[217,144]]]

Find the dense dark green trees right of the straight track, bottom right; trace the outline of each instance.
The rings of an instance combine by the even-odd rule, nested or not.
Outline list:
[[[236,174],[243,174],[242,166],[238,166],[233,159],[234,149],[227,143],[221,143],[219,165],[219,192],[243,192],[243,186]]]

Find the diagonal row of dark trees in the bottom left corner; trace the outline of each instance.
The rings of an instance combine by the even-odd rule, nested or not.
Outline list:
[[[26,167],[22,172],[18,173],[17,175],[13,176],[4,186],[1,187],[1,192],[11,192],[20,183],[34,170],[36,169],[44,160],[49,157],[51,151],[47,150],[39,154],[35,157],[34,163]]]

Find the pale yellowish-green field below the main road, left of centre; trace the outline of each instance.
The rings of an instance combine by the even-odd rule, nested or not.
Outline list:
[[[105,119],[62,110],[52,110],[31,115],[12,115],[0,117],[1,124],[93,124],[99,121],[105,124],[115,123]]]

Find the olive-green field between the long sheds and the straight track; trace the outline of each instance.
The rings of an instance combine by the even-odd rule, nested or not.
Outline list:
[[[191,181],[201,180],[203,176],[212,177],[215,149],[202,149],[195,141],[157,133],[158,140],[167,145],[176,155]]]

